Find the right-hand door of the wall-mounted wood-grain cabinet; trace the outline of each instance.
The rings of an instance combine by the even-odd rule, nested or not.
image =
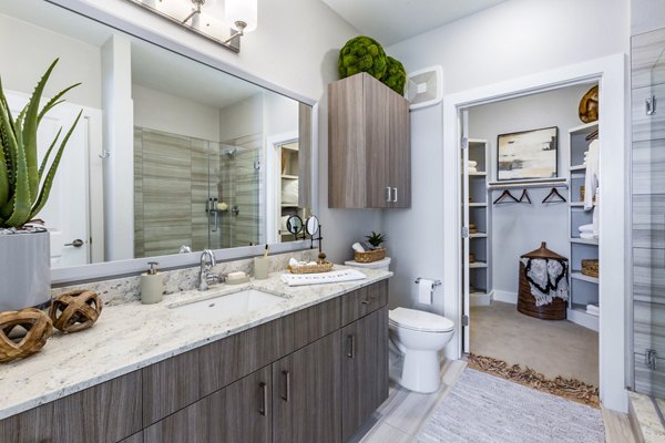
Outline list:
[[[390,132],[388,138],[389,174],[392,187],[391,207],[411,207],[411,131],[409,102],[390,92],[388,112]]]

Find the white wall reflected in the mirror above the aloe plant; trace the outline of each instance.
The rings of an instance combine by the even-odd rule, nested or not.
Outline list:
[[[102,107],[102,60],[100,49],[32,23],[0,14],[0,68],[2,86],[31,94],[55,58],[60,58],[44,90],[53,96],[73,83],[82,84],[66,94],[70,103]]]

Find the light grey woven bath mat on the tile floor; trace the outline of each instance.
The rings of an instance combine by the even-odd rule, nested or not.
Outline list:
[[[601,443],[601,411],[473,369],[421,427],[420,443]]]

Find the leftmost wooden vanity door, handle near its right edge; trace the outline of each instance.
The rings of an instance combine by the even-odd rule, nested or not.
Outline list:
[[[236,381],[147,427],[145,443],[272,441],[270,368]]]

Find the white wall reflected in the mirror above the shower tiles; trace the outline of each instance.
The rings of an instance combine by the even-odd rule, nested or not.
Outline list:
[[[132,85],[132,100],[134,126],[219,141],[219,110],[216,107],[139,84]]]

